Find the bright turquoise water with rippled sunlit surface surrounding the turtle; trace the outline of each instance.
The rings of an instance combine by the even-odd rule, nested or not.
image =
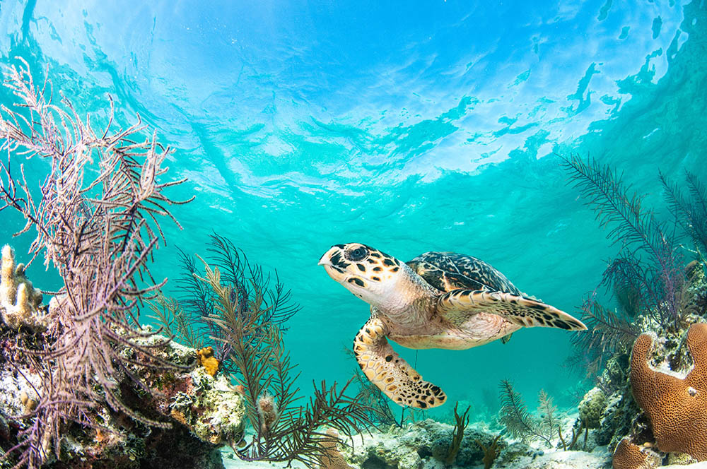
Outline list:
[[[344,348],[368,318],[317,266],[332,244],[470,254],[576,312],[618,248],[555,153],[617,167],[659,210],[659,169],[707,178],[703,1],[475,3],[3,1],[0,50],[48,67],[81,113],[105,115],[110,94],[119,120],[139,113],[177,148],[189,183],[173,195],[197,198],[153,273],[175,278],[175,247],[203,252],[212,231],[277,269],[302,307],[286,343],[308,389],[351,376]],[[531,407],[540,388],[569,405],[569,340],[397,350],[450,400],[481,408],[513,379]]]

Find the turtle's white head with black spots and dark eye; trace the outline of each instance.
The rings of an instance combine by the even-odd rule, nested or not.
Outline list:
[[[395,301],[404,263],[366,244],[335,244],[319,265],[346,290],[376,307]]]

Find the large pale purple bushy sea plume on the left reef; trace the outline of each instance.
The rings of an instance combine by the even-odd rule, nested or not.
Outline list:
[[[168,206],[188,201],[163,194],[185,182],[163,181],[170,148],[155,136],[137,140],[145,129],[140,121],[116,129],[112,101],[107,124],[97,132],[66,98],[63,106],[52,104],[51,83],[35,85],[26,62],[6,71],[5,85],[19,102],[17,109],[2,107],[0,117],[6,153],[0,162],[0,211],[23,216],[25,226],[16,235],[36,233],[30,263],[43,255],[64,284],[49,304],[42,347],[23,350],[40,386],[37,402],[23,415],[29,425],[7,451],[18,453],[18,467],[36,468],[51,451],[59,454],[69,422],[105,429],[95,411],[106,405],[148,426],[170,425],[130,408],[117,376],[127,376],[140,393],[156,395],[129,367],[184,368],[153,353],[169,338],[142,342],[153,333],[139,328],[138,307],[166,281],[156,282],[148,267],[164,240],[160,219],[179,226]],[[49,162],[39,194],[17,164],[23,156]]]

